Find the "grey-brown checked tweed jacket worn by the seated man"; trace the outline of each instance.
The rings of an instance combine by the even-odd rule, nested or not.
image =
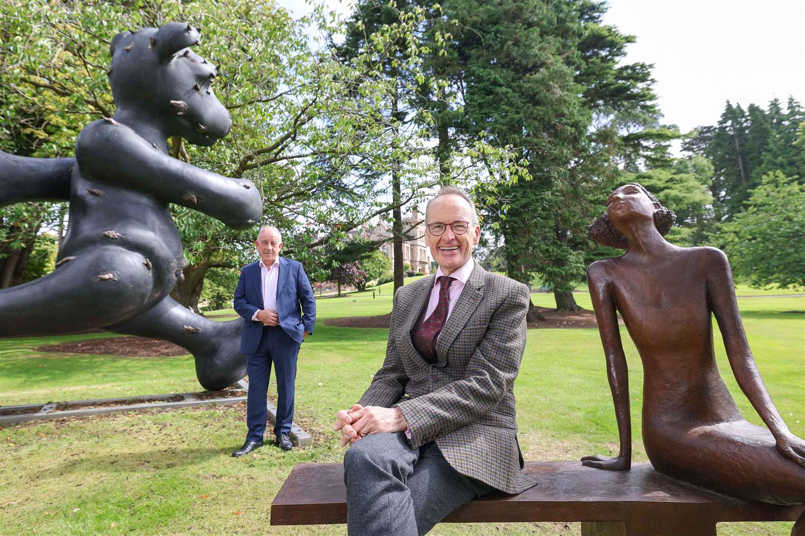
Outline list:
[[[436,276],[394,294],[386,360],[362,406],[398,407],[411,447],[436,441],[459,473],[506,493],[536,484],[522,472],[514,419],[514,378],[526,347],[526,285],[475,264],[436,339],[429,364],[411,342],[411,328]]]

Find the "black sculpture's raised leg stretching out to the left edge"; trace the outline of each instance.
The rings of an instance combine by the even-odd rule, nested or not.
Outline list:
[[[0,336],[69,333],[147,309],[154,278],[137,252],[105,246],[30,283],[0,290]]]

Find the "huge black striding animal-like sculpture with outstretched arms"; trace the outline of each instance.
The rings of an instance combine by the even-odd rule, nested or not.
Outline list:
[[[81,131],[76,158],[0,153],[0,206],[70,202],[56,271],[0,291],[0,335],[101,327],[184,346],[207,389],[246,374],[242,321],[210,321],[168,296],[184,268],[168,203],[237,229],[262,214],[251,182],[167,154],[168,137],[213,145],[232,125],[211,88],[217,69],[190,51],[198,42],[183,23],[118,34],[109,69],[117,111]]]

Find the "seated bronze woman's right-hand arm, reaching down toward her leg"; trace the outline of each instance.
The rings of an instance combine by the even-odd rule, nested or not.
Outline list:
[[[752,350],[749,350],[741,313],[738,312],[733,272],[729,268],[729,260],[719,249],[703,249],[705,255],[703,263],[708,267],[708,301],[716,316],[727,350],[729,366],[733,369],[738,386],[741,387],[741,391],[744,391],[744,395],[752,403],[755,411],[758,411],[758,415],[769,427],[775,439],[791,436],[791,432],[771,400],[769,391],[766,390],[766,384],[763,383],[758,366],[755,364]]]

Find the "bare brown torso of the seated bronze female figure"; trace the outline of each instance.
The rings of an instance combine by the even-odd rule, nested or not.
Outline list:
[[[617,310],[643,363],[646,450],[659,427],[742,419],[716,364],[702,252],[677,248],[642,268],[623,257],[609,260]]]

